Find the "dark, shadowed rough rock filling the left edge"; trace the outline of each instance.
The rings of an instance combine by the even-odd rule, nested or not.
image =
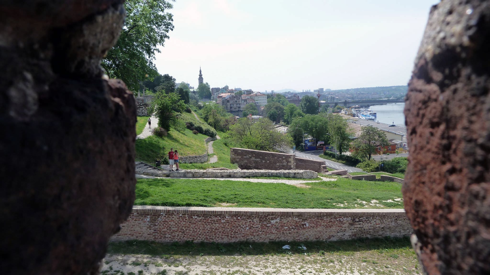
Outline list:
[[[135,100],[99,65],[121,3],[0,3],[3,274],[98,274],[131,212]]]

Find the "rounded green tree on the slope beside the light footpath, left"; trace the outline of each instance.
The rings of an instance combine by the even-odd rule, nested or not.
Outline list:
[[[149,107],[149,112],[158,117],[158,126],[170,131],[171,126],[179,123],[177,112],[182,112],[186,105],[176,93],[157,92]]]

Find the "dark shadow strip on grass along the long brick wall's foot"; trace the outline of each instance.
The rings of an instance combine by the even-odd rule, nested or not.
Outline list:
[[[282,247],[290,245],[291,249]],[[304,245],[307,250],[298,248]],[[378,250],[381,253],[392,249],[410,249],[408,237],[402,238],[364,238],[344,241],[306,241],[306,242],[237,242],[237,243],[158,243],[154,241],[129,240],[110,242],[108,254],[146,254],[156,257],[167,255],[267,255],[267,254],[304,254],[304,253],[353,253]]]

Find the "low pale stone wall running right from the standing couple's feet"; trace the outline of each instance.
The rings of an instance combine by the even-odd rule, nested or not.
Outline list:
[[[312,170],[167,170],[136,169],[136,173],[155,177],[178,178],[245,178],[245,177],[286,177],[298,179],[314,179],[318,173]]]

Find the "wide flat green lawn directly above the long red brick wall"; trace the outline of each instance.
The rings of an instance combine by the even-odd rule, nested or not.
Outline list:
[[[338,178],[299,188],[282,183],[230,180],[138,179],[135,205],[262,208],[403,208],[401,186]]]

